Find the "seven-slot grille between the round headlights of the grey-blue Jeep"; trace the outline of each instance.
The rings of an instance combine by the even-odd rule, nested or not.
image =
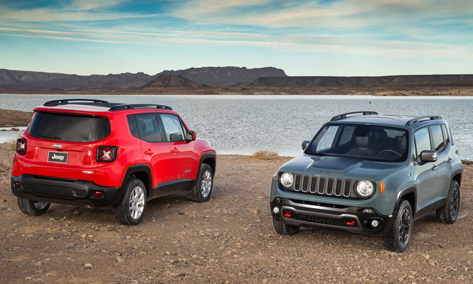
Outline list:
[[[294,174],[294,191],[331,197],[350,197],[353,180]]]

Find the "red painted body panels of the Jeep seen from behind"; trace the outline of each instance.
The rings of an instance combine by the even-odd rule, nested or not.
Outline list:
[[[155,188],[163,182],[182,179],[195,180],[201,163],[201,156],[205,153],[216,154],[211,144],[203,139],[149,143],[132,136],[127,116],[164,113],[179,116],[176,111],[154,108],[110,111],[109,107],[80,104],[36,107],[33,109],[33,116],[37,111],[104,116],[110,119],[111,133],[109,136],[91,143],[66,142],[48,138],[35,138],[28,134],[28,125],[22,136],[26,139],[26,153],[24,155],[16,153],[11,168],[11,175],[14,177],[25,174],[40,175],[87,180],[106,187],[121,187],[124,178],[126,178],[124,175],[127,168],[132,165],[145,164],[151,168],[151,187]],[[184,127],[187,131],[186,124],[184,124]],[[53,147],[55,143],[61,144],[62,148]],[[111,163],[97,162],[96,155],[99,146],[118,147],[116,160]],[[48,162],[50,151],[68,153],[68,163]]]

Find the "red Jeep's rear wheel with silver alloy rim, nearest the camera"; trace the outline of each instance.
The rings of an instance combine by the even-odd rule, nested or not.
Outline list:
[[[113,209],[115,219],[119,224],[135,226],[142,221],[146,205],[147,192],[144,183],[137,178],[129,178],[122,199]]]

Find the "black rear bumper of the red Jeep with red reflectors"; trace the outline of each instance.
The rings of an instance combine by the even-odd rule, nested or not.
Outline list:
[[[14,182],[19,182],[15,188]],[[122,187],[102,187],[88,180],[73,180],[38,175],[11,176],[11,192],[26,200],[90,207],[114,207],[122,196]],[[95,198],[94,192],[103,192]]]

